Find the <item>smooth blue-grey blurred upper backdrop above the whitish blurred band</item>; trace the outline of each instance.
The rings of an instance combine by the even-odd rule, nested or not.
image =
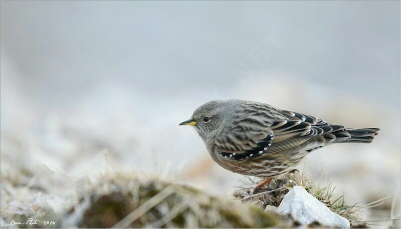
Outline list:
[[[216,90],[236,97],[230,88],[240,79],[262,80],[269,90],[272,72],[280,72],[398,107],[399,5],[2,1],[1,72],[13,65],[8,77],[21,93],[48,105],[74,103],[100,84],[144,99],[203,101]]]

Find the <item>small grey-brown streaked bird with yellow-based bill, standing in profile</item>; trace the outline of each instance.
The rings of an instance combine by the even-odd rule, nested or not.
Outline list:
[[[334,143],[370,143],[380,131],[345,128],[312,115],[240,99],[209,101],[179,125],[193,126],[223,168],[265,177],[253,191],[292,171],[316,149]]]

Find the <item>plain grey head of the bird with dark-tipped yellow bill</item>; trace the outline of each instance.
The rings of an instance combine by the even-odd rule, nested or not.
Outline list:
[[[218,134],[219,126],[232,113],[236,103],[240,100],[214,100],[199,106],[189,120],[180,125],[193,125],[198,134],[206,140]]]

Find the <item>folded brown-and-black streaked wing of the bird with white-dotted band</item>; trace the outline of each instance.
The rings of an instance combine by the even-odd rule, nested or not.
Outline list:
[[[286,150],[317,136],[344,129],[342,125],[331,125],[310,115],[287,110],[280,113],[282,116],[273,122],[253,120],[252,123],[247,120],[244,123],[252,125],[236,125],[231,132],[216,137],[215,149],[222,157],[242,160]]]

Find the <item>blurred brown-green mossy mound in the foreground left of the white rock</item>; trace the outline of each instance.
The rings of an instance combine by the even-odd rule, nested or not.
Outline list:
[[[116,178],[118,177],[118,178]],[[133,175],[101,177],[88,186],[79,198],[90,198],[90,204],[79,219],[82,227],[112,227],[125,216],[127,227],[292,227],[291,218],[266,212],[250,203],[221,198],[196,188],[154,178]],[[170,191],[169,191],[170,190]],[[165,196],[162,196],[165,194]],[[160,197],[161,196],[161,197]],[[160,197],[160,198],[159,198]],[[74,210],[70,210],[72,214]]]

